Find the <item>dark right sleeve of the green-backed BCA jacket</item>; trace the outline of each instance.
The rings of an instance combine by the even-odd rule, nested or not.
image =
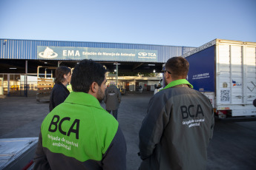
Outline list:
[[[104,170],[126,169],[126,142],[122,130],[118,127],[116,135],[103,154],[102,168]]]

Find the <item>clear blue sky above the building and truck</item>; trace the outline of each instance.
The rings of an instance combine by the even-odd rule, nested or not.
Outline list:
[[[200,47],[256,42],[256,0],[0,0],[0,38]]]

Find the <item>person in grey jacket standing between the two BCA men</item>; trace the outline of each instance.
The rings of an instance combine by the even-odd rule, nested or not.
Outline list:
[[[117,120],[117,110],[119,108],[119,103],[121,103],[121,92],[117,87],[111,82],[111,85],[105,90],[104,102],[106,110],[111,113]]]

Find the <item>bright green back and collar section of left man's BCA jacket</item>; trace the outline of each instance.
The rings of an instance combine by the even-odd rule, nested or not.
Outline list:
[[[93,95],[70,92],[65,102],[56,106],[43,121],[42,146],[82,162],[99,161],[118,126]]]

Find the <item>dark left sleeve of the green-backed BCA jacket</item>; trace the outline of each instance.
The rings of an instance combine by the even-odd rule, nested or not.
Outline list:
[[[33,169],[50,169],[50,165],[48,163],[45,152],[42,147],[42,134],[39,134],[39,142],[36,148],[36,154],[34,157],[34,166]]]

